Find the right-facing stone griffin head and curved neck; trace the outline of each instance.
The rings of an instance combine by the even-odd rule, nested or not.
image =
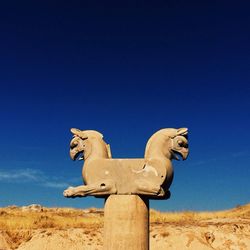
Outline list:
[[[185,160],[188,156],[188,129],[166,128],[157,131],[147,143],[145,157],[162,154],[170,160]]]

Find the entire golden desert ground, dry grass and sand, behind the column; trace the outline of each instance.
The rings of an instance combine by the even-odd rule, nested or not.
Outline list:
[[[250,204],[218,212],[150,212],[150,249],[250,249]],[[102,249],[101,209],[0,208],[0,250]]]

